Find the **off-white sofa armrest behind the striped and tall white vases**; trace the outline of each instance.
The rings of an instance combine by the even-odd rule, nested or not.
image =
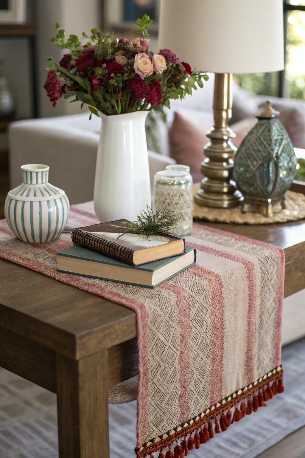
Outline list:
[[[47,164],[50,183],[64,189],[71,204],[92,200],[101,120],[94,116],[89,121],[88,117],[89,114],[84,113],[12,123],[9,132],[11,187],[20,184],[22,164]],[[168,156],[149,151],[150,179],[175,162]]]

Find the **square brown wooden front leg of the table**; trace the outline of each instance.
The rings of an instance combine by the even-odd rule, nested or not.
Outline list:
[[[59,458],[109,458],[107,352],[56,355]]]

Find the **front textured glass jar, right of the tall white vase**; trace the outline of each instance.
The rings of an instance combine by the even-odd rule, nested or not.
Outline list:
[[[193,226],[193,179],[185,170],[162,170],[154,178],[155,209],[180,216],[173,230],[178,237],[191,234]]]

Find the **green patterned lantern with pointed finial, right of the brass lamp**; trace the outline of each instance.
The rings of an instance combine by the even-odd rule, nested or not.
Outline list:
[[[285,208],[284,195],[294,179],[297,159],[277,114],[268,101],[235,155],[233,180],[244,195],[243,212],[271,216]]]

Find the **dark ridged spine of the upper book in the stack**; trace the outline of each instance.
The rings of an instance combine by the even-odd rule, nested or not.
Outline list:
[[[81,229],[73,229],[72,242],[74,245],[80,245],[89,250],[96,251],[102,255],[118,259],[118,261],[134,266],[134,251],[119,243],[104,240],[97,235],[88,234],[88,232]]]

